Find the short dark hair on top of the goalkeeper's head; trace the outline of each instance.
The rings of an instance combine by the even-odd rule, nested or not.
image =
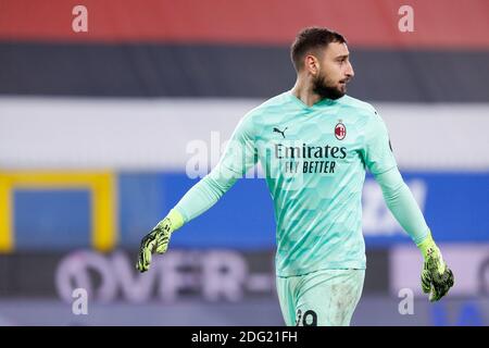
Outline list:
[[[308,53],[317,48],[326,48],[330,42],[347,44],[347,39],[339,33],[316,26],[299,32],[290,47],[290,58],[296,71],[302,69],[303,59]]]

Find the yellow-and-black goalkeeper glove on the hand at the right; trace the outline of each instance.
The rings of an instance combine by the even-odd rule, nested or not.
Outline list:
[[[453,273],[444,263],[440,249],[432,240],[431,232],[417,247],[425,259],[421,276],[423,293],[429,294],[431,302],[438,301],[453,286]]]

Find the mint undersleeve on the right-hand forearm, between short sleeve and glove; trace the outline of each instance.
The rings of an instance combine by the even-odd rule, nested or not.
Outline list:
[[[376,175],[387,207],[416,245],[429,235],[425,217],[397,167]]]

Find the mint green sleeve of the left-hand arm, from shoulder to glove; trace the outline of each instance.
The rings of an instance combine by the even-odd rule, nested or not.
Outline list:
[[[256,163],[250,115],[241,119],[217,165],[193,185],[178,201],[176,209],[185,223],[199,216],[233,187]]]

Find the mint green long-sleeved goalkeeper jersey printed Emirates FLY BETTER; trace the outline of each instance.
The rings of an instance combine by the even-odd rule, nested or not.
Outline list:
[[[185,221],[193,219],[258,162],[274,202],[278,276],[365,269],[361,197],[366,169],[377,179],[397,173],[383,186],[389,208],[403,216],[398,221],[411,235],[426,236],[385,123],[366,102],[343,96],[308,107],[291,91],[267,100],[241,119],[216,167],[176,209]]]

